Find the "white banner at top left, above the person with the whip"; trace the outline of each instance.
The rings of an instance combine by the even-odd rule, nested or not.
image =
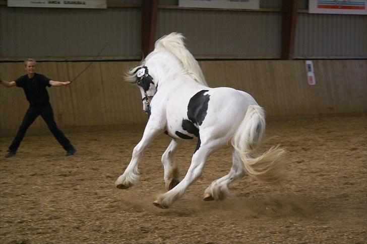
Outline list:
[[[106,0],[8,0],[8,7],[106,9]]]

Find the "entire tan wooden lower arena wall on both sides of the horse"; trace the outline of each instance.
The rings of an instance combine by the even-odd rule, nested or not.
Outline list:
[[[232,87],[254,96],[267,116],[301,117],[367,112],[367,60],[313,60],[316,85],[304,60],[199,61],[210,87]],[[38,62],[37,72],[70,80],[90,62]],[[134,61],[93,62],[70,87],[48,89],[60,128],[144,124],[139,90],[124,82]],[[24,74],[23,63],[0,63],[1,78]],[[28,108],[22,89],[0,86],[0,133],[15,132]],[[32,128],[46,128],[37,118]]]

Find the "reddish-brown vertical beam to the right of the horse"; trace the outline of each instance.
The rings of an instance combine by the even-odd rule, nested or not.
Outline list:
[[[282,0],[281,59],[293,59],[298,0]]]

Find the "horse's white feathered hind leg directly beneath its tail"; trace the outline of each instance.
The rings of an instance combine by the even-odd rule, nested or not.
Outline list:
[[[246,171],[236,150],[232,150],[232,168],[222,178],[215,180],[204,191],[204,201],[223,200],[230,195],[228,185],[232,181],[242,178]]]

